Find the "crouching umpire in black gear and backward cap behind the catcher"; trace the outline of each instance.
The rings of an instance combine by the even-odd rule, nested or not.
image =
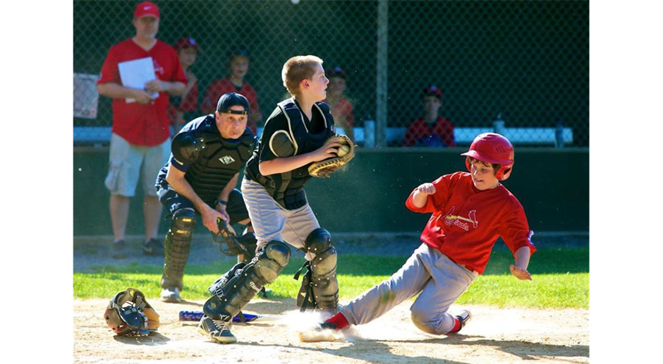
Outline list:
[[[171,219],[161,279],[164,302],[181,301],[197,214],[212,233],[219,233],[218,219],[247,225],[247,231],[253,231],[242,193],[235,188],[255,145],[255,137],[246,127],[249,113],[245,97],[228,93],[219,98],[214,114],[193,119],[173,138],[171,158],[156,182],[166,219]],[[253,240],[255,249],[253,233],[248,234],[243,238]]]

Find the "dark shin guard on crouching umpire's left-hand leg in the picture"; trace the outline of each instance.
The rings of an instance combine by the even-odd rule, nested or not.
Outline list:
[[[189,258],[191,241],[195,229],[195,212],[190,209],[178,210],[173,214],[171,227],[166,234],[166,263],[161,277],[162,288],[177,287],[183,290],[184,267]]]

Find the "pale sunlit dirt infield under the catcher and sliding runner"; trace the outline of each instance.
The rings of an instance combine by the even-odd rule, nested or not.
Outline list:
[[[157,333],[114,336],[102,318],[107,300],[73,300],[73,363],[588,363],[589,310],[468,308],[473,320],[463,334],[433,336],[411,322],[409,302],[370,324],[355,327],[346,341],[303,343],[298,329],[317,321],[293,311],[293,300],[257,300],[246,312],[279,320],[236,324],[238,344],[220,345],[198,334],[197,322],[178,321],[180,310],[202,302],[150,303],[161,315]]]

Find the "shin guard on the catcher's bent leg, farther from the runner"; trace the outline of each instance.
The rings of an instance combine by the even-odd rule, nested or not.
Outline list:
[[[281,241],[270,241],[251,262],[236,264],[209,286],[214,296],[202,308],[205,315],[214,320],[232,320],[255,293],[279,277],[289,261],[290,247]]]

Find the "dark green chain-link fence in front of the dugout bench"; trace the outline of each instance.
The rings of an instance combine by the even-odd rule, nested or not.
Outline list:
[[[137,3],[73,1],[74,143],[109,140],[111,100],[90,85],[111,45],[135,35]],[[343,68],[360,145],[444,146],[448,121],[458,145],[494,129],[518,145],[590,145],[589,1],[156,3],[159,40],[193,37],[202,49],[190,68],[199,81],[197,111],[185,119],[200,114],[207,87],[229,75],[229,52],[242,48],[250,52],[244,80],[264,117],[284,98],[281,66],[291,56],[315,54],[325,68]],[[429,90],[425,104],[430,85],[442,97]],[[435,99],[437,121],[427,111]],[[442,142],[420,138],[427,133]]]

